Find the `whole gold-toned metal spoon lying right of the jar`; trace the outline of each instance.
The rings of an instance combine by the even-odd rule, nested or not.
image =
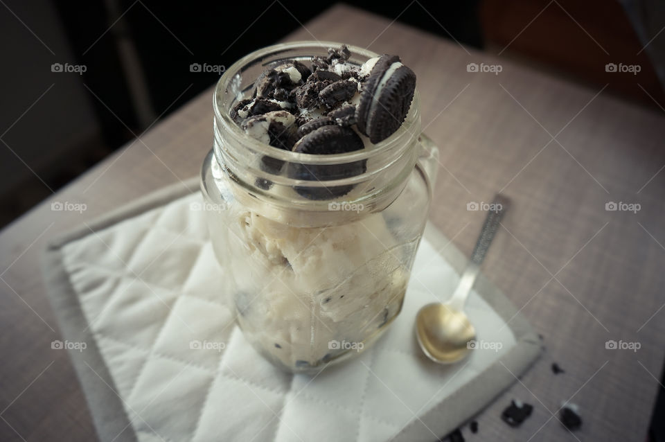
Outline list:
[[[427,304],[416,315],[418,344],[425,355],[438,364],[458,362],[473,348],[476,329],[463,311],[464,304],[508,204],[508,198],[500,194],[489,204],[478,242],[452,297],[446,303]]]

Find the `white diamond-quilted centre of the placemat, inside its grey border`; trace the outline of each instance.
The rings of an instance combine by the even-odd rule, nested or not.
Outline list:
[[[441,259],[421,262],[423,268],[416,260],[409,294],[420,287],[421,299],[405,303],[372,349],[313,380],[278,371],[235,325],[204,213],[189,210],[200,197],[183,197],[63,247],[64,266],[130,417],[125,431],[140,441],[287,442],[330,434],[384,441],[510,348],[485,359],[472,355],[432,397],[455,369],[420,362],[411,321],[420,305],[440,300],[420,281],[436,276],[445,294],[456,275]],[[470,315],[486,310],[472,295]],[[499,328],[498,317],[484,319],[481,327]],[[190,348],[192,342],[218,348]]]

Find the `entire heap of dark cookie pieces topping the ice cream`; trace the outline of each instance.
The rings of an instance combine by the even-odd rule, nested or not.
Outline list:
[[[367,60],[362,66],[349,59],[346,45],[329,48],[328,56],[272,64],[254,82],[251,98],[232,107],[229,116],[249,136],[281,150],[335,154],[371,148],[396,132],[405,121],[414,96],[416,76],[392,55]],[[337,129],[321,130],[323,127]],[[315,134],[312,136],[312,134]],[[366,136],[367,138],[365,138]],[[369,141],[368,141],[369,139]],[[261,170],[278,175],[284,162],[264,155]],[[365,172],[366,161],[344,166],[294,165],[290,177],[324,181]],[[272,182],[256,179],[258,188]],[[296,192],[314,200],[345,195],[353,185],[300,187]]]

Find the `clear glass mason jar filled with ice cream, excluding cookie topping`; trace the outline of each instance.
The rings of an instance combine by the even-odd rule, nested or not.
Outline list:
[[[238,324],[259,353],[294,373],[357,355],[400,312],[438,156],[420,134],[418,91],[397,132],[346,154],[273,148],[230,118],[267,67],[306,63],[329,47],[339,43],[278,44],[227,69],[215,89],[215,141],[202,168],[211,241],[231,280]],[[358,65],[377,56],[349,49]],[[359,162],[366,171],[346,176]],[[303,167],[327,178],[289,173]]]

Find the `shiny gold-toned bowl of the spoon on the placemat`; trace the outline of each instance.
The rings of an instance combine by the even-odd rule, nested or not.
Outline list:
[[[416,337],[423,353],[438,364],[463,360],[472,350],[476,329],[464,312],[442,303],[427,304],[416,317]]]

